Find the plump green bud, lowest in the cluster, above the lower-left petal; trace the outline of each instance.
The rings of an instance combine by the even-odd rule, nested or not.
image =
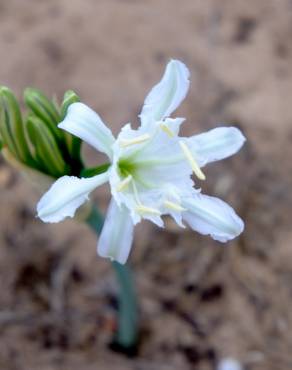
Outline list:
[[[47,174],[60,177],[69,174],[56,139],[47,125],[38,117],[29,116],[27,132],[35,148],[35,158]]]

